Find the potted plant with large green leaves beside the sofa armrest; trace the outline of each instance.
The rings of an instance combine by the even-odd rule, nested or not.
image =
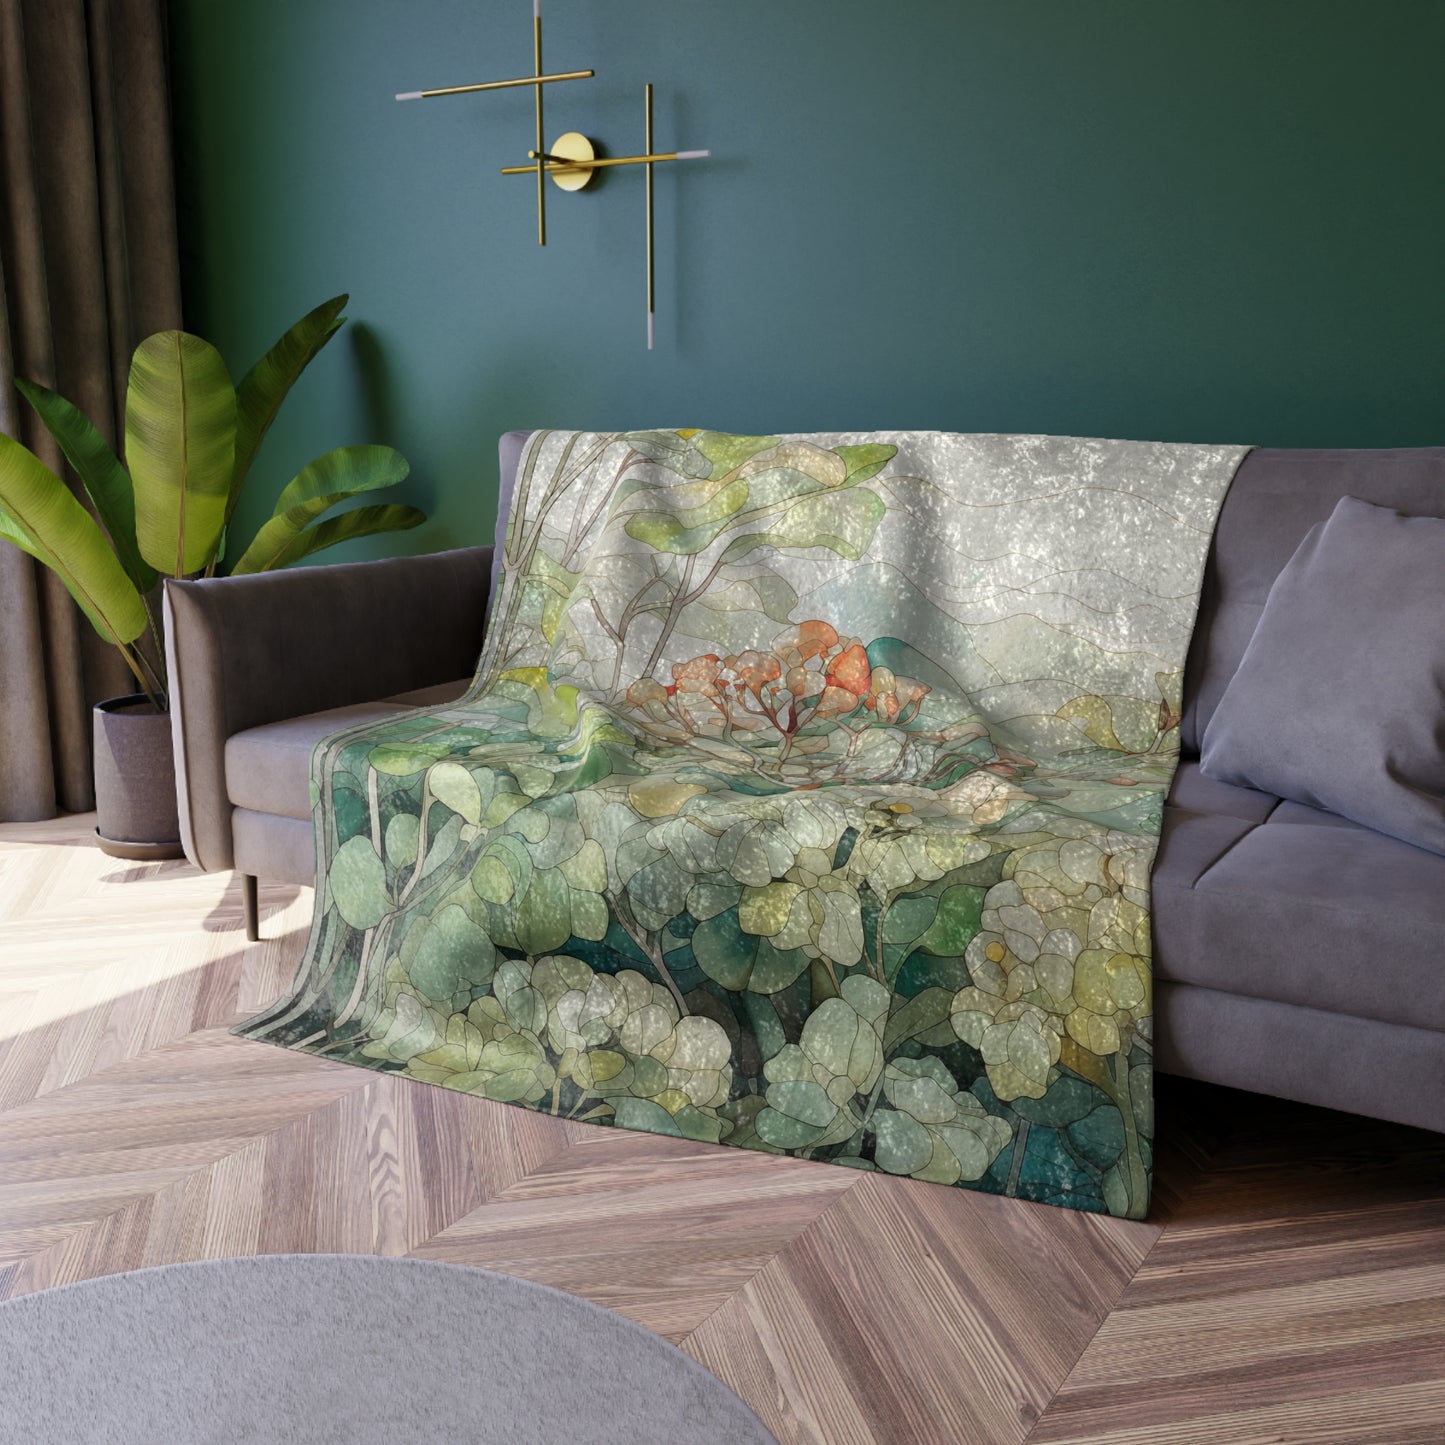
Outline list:
[[[78,407],[33,381],[16,383],[94,516],[35,452],[0,435],[0,538],[61,578],[139,688],[95,707],[95,831],[117,857],[181,855],[165,647],[153,605],[159,579],[211,577],[223,549],[237,556],[231,575],[263,572],[426,519],[416,507],[392,504],[322,520],[340,503],[407,474],[390,447],[338,447],[292,478],[244,549],[228,546],[256,452],[292,383],[345,321],[345,303],[335,296],[302,316],[238,386],[199,337],[147,337],[130,364],[124,464]]]

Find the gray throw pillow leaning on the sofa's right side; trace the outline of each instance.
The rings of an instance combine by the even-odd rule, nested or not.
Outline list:
[[[1342,497],[1274,579],[1199,753],[1445,854],[1445,519]]]

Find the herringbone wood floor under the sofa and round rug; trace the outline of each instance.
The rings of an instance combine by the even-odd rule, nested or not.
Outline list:
[[[0,1298],[415,1254],[676,1341],[780,1441],[1445,1441],[1445,1139],[1160,1081],[1124,1224],[553,1120],[233,1039],[311,894],[0,828]],[[565,1367],[565,1361],[564,1361]]]

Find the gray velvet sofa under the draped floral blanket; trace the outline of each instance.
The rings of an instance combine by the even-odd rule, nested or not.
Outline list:
[[[525,432],[501,442],[506,516]],[[1445,448],[1248,455],[1191,652],[1183,763],[1153,874],[1169,1074],[1445,1131],[1445,857],[1214,782],[1199,738],[1270,584],[1341,496],[1445,516]],[[166,587],[181,832],[201,868],[311,883],[309,754],[332,728],[457,696],[493,548]]]

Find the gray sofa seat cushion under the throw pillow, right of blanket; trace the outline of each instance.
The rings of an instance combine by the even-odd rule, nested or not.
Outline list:
[[[1445,1030],[1445,858],[1332,814],[1165,809],[1155,972],[1246,997]]]

